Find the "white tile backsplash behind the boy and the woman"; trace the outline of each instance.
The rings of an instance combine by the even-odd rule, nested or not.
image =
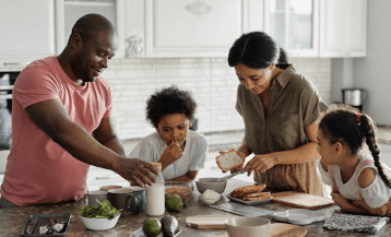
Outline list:
[[[294,58],[291,62],[329,104],[331,60]],[[139,139],[154,131],[145,120],[145,102],[155,90],[171,84],[193,93],[199,132],[244,129],[235,109],[238,80],[225,58],[114,59],[103,76],[111,85],[116,130],[122,140]]]

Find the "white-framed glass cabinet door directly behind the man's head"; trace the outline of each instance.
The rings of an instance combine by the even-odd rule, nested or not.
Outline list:
[[[83,15],[97,13],[107,17],[117,28],[118,49],[116,58],[125,57],[125,3],[123,0],[57,0],[57,52],[68,43],[74,23]]]

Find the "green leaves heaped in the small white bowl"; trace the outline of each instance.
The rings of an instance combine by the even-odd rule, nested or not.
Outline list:
[[[110,201],[105,200],[99,203],[98,208],[86,205],[83,210],[79,210],[79,215],[88,218],[108,218],[111,220],[117,213],[121,213],[122,210],[114,208]]]

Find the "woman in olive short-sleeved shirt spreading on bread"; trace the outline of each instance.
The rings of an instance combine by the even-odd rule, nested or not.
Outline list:
[[[317,120],[328,107],[310,81],[287,63],[283,49],[266,34],[238,38],[228,64],[239,79],[236,109],[245,122],[237,153],[254,154],[245,170],[271,191],[322,194],[317,175]],[[235,171],[235,170],[233,170]]]

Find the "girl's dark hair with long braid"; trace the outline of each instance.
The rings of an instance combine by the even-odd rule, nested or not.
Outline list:
[[[364,141],[374,156],[375,166],[381,179],[391,188],[391,180],[380,163],[380,149],[377,144],[376,125],[374,120],[357,109],[341,105],[331,107],[320,121],[319,129],[331,144],[341,142],[349,147],[354,155],[362,149]]]

